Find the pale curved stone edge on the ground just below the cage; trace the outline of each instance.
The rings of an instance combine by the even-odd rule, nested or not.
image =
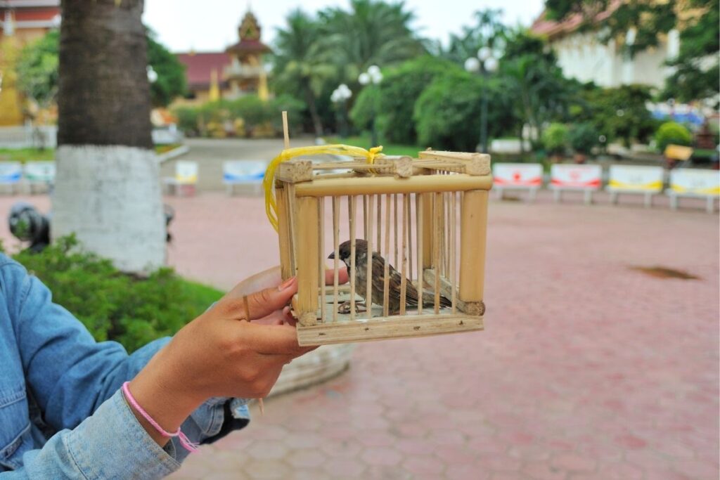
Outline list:
[[[324,345],[294,359],[282,369],[280,378],[268,397],[332,379],[348,368],[353,350],[355,345],[351,343]]]

